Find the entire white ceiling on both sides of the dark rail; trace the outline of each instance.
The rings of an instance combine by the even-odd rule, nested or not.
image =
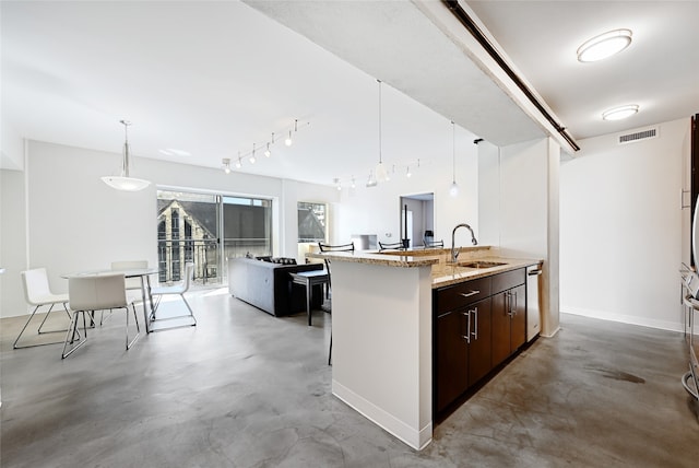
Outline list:
[[[576,138],[699,112],[697,1],[469,5]],[[387,163],[450,167],[450,119],[460,126],[458,149],[475,136],[508,144],[544,134],[419,3],[3,1],[0,9],[3,166],[8,134],[119,152],[126,118],[135,155],[218,167],[298,119],[291,148],[277,141],[269,160],[258,150],[258,163],[241,171],[364,179],[378,160],[376,79]],[[629,49],[605,62],[576,60],[581,42],[618,27],[633,30]],[[602,110],[627,102],[641,113],[600,121]]]

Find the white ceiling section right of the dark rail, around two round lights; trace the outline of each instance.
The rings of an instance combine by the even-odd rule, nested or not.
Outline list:
[[[699,113],[699,1],[469,1],[478,19],[576,139]],[[631,46],[581,63],[576,50],[628,28]],[[618,122],[604,110],[638,104]]]

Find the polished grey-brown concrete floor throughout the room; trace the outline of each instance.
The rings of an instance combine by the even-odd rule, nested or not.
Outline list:
[[[3,319],[0,466],[699,466],[680,334],[564,315],[555,338],[415,452],[332,396],[329,315],[308,327],[304,314],[274,318],[226,290],[193,295],[197,327],[126,351],[114,315],[66,360],[59,344],[12,350],[21,319]]]

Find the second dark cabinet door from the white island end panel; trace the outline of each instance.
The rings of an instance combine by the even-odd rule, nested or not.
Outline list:
[[[469,386],[471,386],[493,368],[490,297],[471,304],[467,311],[467,318],[471,320],[471,343],[469,344]]]

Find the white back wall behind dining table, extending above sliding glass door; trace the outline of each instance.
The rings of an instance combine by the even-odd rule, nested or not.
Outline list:
[[[0,277],[0,316],[27,312],[16,288],[19,272],[27,268],[46,267],[54,290],[66,292],[61,273],[107,268],[112,260],[156,265],[156,185],[273,198],[273,251],[292,257],[297,255],[297,201],[331,203],[337,198],[332,187],[139,157],[131,174],[153,184],[140,192],[121,192],[99,179],[116,174],[120,161],[119,154],[31,141],[25,173],[2,172],[1,259],[8,271]]]

